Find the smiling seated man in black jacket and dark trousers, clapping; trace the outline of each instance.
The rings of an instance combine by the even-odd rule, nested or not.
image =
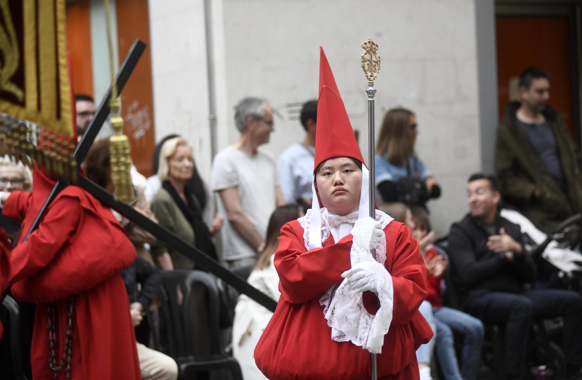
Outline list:
[[[495,178],[473,174],[467,185],[470,213],[453,224],[449,257],[463,309],[485,323],[505,325],[506,371],[523,378],[532,318],[564,319],[567,378],[579,379],[582,364],[582,298],[558,289],[527,289],[535,264],[524,249],[519,225],[498,212]]]

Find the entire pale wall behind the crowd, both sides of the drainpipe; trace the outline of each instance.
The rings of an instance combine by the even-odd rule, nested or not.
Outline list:
[[[238,137],[233,106],[268,98],[281,114],[264,150],[275,158],[303,138],[294,103],[317,98],[324,46],[360,146],[367,156],[362,41],[380,46],[377,129],[386,110],[417,114],[418,155],[441,183],[430,203],[439,234],[466,212],[465,181],[481,167],[474,0],[211,1],[217,148]],[[204,8],[200,0],[150,0],[157,139],[179,131],[193,142],[210,180]]]

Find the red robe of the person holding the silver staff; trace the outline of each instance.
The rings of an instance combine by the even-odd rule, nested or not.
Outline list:
[[[378,378],[418,379],[416,349],[427,343],[432,330],[418,307],[426,295],[428,270],[418,252],[418,242],[406,225],[391,221],[386,235],[386,270],[392,275],[393,317],[378,354]],[[320,297],[343,281],[351,267],[352,235],[322,248],[307,250],[299,221],[281,229],[275,268],[281,297],[275,314],[255,347],[255,362],[272,380],[364,380],[370,378],[370,353],[352,342],[331,339]],[[378,310],[378,298],[363,293],[368,313]]]

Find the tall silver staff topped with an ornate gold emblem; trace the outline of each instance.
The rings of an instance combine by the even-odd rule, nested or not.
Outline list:
[[[365,77],[368,80],[368,89],[365,91],[368,94],[368,166],[370,169],[370,216],[376,217],[376,176],[375,176],[375,135],[374,135],[374,96],[376,90],[374,89],[374,80],[380,71],[380,57],[376,54],[378,44],[368,38],[367,41],[362,42],[364,53],[362,54],[362,69]],[[376,250],[372,250],[372,256],[376,258]],[[376,354],[372,353],[372,380],[378,379],[378,363]]]

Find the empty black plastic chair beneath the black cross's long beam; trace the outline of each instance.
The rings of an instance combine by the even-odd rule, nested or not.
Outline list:
[[[160,290],[161,311],[167,325],[170,355],[178,363],[180,380],[190,379],[199,372],[228,370],[233,380],[243,380],[240,365],[235,358],[228,356],[221,345],[219,331],[219,293],[214,278],[198,270],[162,271],[162,284],[165,292]],[[190,337],[192,326],[190,316],[190,295],[197,284],[204,286],[207,292],[207,304],[197,305],[197,311],[207,313],[208,331],[210,332],[210,354],[194,355],[194,346]],[[178,305],[178,285],[184,296],[182,307]]]

